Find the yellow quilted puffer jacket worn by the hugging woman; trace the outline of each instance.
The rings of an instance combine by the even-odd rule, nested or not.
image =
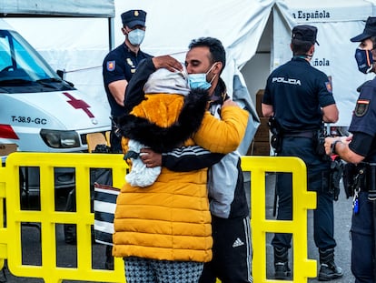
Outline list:
[[[179,124],[176,121],[184,106],[184,96],[153,94],[145,97],[146,100],[131,112],[130,116],[145,118],[141,124],[138,120],[132,122],[132,133],[143,131],[145,121],[160,127],[162,136],[166,128]],[[221,115],[222,120],[219,120],[204,111],[201,126],[190,133],[191,137],[181,141],[181,145],[199,145],[223,154],[235,150],[245,133],[248,112],[240,107],[226,106]],[[124,117],[123,124],[130,116]],[[150,140],[143,137],[140,142],[153,148],[153,142],[157,143],[155,140],[158,139],[155,132],[153,135],[149,135]],[[127,151],[126,142],[124,138],[124,152]],[[117,197],[114,257],[210,261],[213,239],[206,182],[207,168],[173,172],[163,167],[150,187],[131,187],[125,183]]]

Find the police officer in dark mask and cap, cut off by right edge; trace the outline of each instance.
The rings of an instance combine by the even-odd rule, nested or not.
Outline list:
[[[376,73],[376,17],[369,17],[355,51],[359,71]],[[361,87],[352,114],[351,137],[327,137],[325,151],[336,154],[353,167],[350,196],[353,197],[351,219],[351,271],[356,283],[376,282],[376,78]]]

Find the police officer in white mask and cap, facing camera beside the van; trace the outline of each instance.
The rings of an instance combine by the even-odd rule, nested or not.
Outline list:
[[[143,10],[124,12],[122,32],[125,35],[125,41],[104,57],[104,88],[113,119],[110,142],[114,153],[122,152],[121,136],[116,135],[116,119],[124,114],[125,88],[138,64],[144,58],[151,57],[140,50],[146,29],[145,20],[146,12]]]

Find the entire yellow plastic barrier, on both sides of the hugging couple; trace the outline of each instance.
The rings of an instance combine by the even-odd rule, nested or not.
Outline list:
[[[20,207],[20,167],[40,167],[41,208],[23,210]],[[54,167],[74,167],[76,177],[76,212],[54,209]],[[0,267],[4,258],[8,268],[18,277],[43,278],[46,283],[60,283],[63,279],[125,282],[124,262],[115,258],[114,270],[92,268],[91,226],[94,215],[90,212],[90,168],[113,168],[114,187],[122,187],[126,164],[123,155],[13,153],[0,167],[0,208],[6,203],[7,227],[0,227]],[[242,157],[242,168],[251,171],[252,185],[252,246],[254,282],[281,282],[266,278],[266,233],[293,234],[293,280],[307,282],[316,277],[316,261],[307,258],[307,209],[315,207],[315,195],[307,192],[306,167],[295,157]],[[265,218],[265,176],[268,172],[292,172],[292,221]],[[83,201],[85,200],[85,201]],[[1,226],[4,217],[1,215]],[[22,264],[21,224],[39,223],[42,238],[42,265]],[[77,227],[77,268],[61,268],[56,264],[56,224],[72,223]],[[12,251],[12,252],[9,252]],[[219,280],[218,280],[219,282]],[[283,281],[289,282],[289,281]]]

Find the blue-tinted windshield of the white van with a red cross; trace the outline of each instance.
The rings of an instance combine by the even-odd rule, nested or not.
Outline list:
[[[21,35],[0,30],[0,92],[33,92],[33,86],[38,91],[72,89]]]

